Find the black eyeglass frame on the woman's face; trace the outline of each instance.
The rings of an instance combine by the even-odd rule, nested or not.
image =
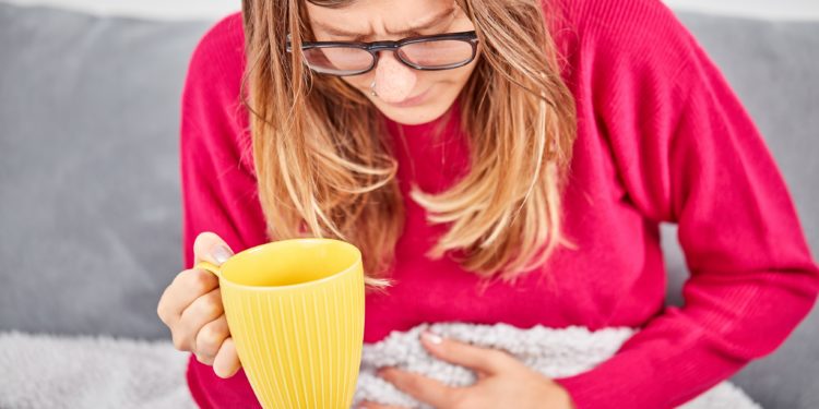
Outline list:
[[[428,43],[428,41],[437,41],[437,40],[461,40],[464,43],[467,43],[472,46],[472,56],[464,61],[448,64],[448,65],[441,65],[441,67],[424,67],[418,65],[416,63],[413,63],[411,61],[406,61],[403,58],[401,58],[401,55],[396,51],[399,48],[410,45],[410,44],[417,44],[417,43]],[[475,31],[470,32],[459,32],[459,33],[443,33],[443,34],[435,34],[429,36],[415,36],[415,37],[407,37],[402,38],[400,40],[395,41],[371,41],[371,43],[364,43],[364,41],[306,41],[301,44],[301,50],[309,50],[312,48],[334,48],[334,47],[349,47],[349,48],[358,48],[361,50],[365,50],[369,52],[372,56],[372,63],[370,63],[370,67],[364,70],[357,70],[352,73],[344,73],[344,74],[332,74],[332,73],[325,73],[320,72],[321,74],[325,75],[336,75],[336,76],[352,76],[352,75],[361,75],[369,71],[371,71],[376,64],[378,63],[378,52],[384,51],[384,50],[392,50],[395,58],[401,61],[403,64],[415,69],[419,71],[441,71],[441,70],[452,70],[456,69],[459,67],[463,67],[475,60],[475,56],[477,56],[477,45],[478,45],[478,38]],[[293,52],[293,46],[290,44],[290,35],[287,35],[287,43],[285,45],[285,48],[287,52]],[[305,61],[305,64],[309,68],[310,65]],[[311,68],[312,69],[312,68]]]

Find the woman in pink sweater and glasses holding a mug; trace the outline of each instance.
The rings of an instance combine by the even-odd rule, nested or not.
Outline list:
[[[424,322],[640,328],[554,380],[425,341],[484,374],[383,372],[435,407],[678,406],[772,352],[819,290],[759,132],[655,0],[246,0],[182,103],[187,267],[343,238],[381,288],[366,342]],[[662,221],[684,308],[663,305]],[[258,407],[212,275],[181,272],[157,310],[200,406]]]

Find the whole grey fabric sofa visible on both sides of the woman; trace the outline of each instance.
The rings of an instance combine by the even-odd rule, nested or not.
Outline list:
[[[679,16],[765,135],[817,254],[819,22]],[[0,332],[168,339],[155,309],[181,269],[179,96],[212,23],[0,3]],[[673,226],[663,241],[681,304]],[[817,340],[815,309],[733,381],[765,408],[819,408]]]

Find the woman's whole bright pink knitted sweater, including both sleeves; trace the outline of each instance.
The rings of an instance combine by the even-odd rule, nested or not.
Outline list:
[[[557,40],[577,98],[578,140],[559,251],[514,287],[479,292],[476,276],[423,254],[441,233],[406,200],[396,286],[368,296],[365,341],[424,322],[508,323],[641,330],[593,370],[558,378],[578,408],[678,406],[776,349],[819,290],[794,205],[771,154],[719,69],[656,0],[561,0]],[[214,231],[235,250],[270,241],[257,199],[248,113],[239,106],[241,19],[198,46],[182,97],[183,251]],[[452,109],[459,109],[453,105]],[[388,121],[394,137],[394,122]],[[450,185],[466,166],[450,124],[404,127],[400,182]],[[399,146],[401,146],[399,144]],[[406,197],[406,196],[405,196]],[[691,276],[685,306],[665,306],[658,224],[676,222]],[[228,380],[191,356],[188,382],[203,408],[259,407],[244,372]]]

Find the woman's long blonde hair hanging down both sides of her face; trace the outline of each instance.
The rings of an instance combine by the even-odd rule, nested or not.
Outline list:
[[[311,34],[304,1],[242,0],[242,95],[248,86],[268,234],[346,240],[361,249],[367,284],[383,287],[404,224],[394,148],[359,91],[302,64],[301,40]],[[470,172],[444,192],[414,189],[411,197],[430,222],[449,226],[428,256],[456,252],[464,269],[509,280],[567,242],[560,193],[575,137],[574,99],[538,0],[456,2],[482,47],[459,97]]]

